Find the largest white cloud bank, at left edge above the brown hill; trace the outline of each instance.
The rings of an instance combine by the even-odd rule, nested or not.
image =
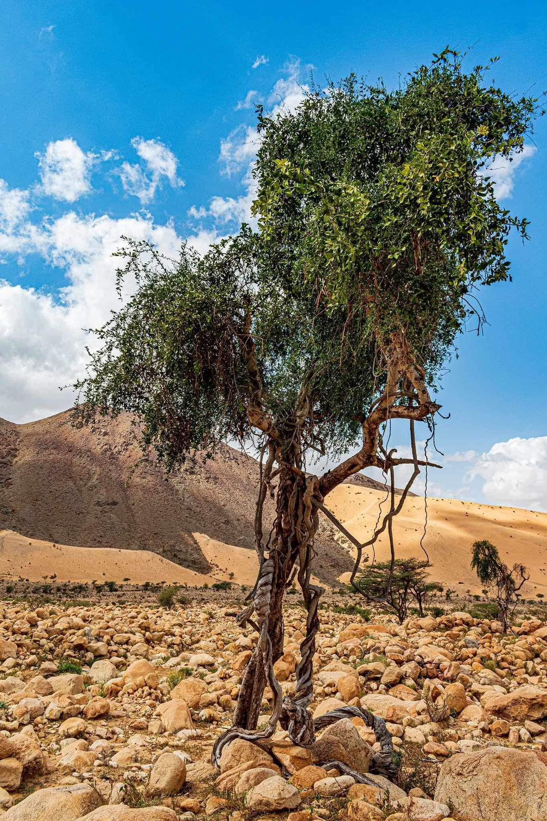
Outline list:
[[[97,327],[117,308],[112,254],[121,236],[148,240],[165,255],[176,257],[181,245],[172,225],[156,225],[149,216],[113,219],[74,212],[26,229],[25,252],[33,250],[62,268],[67,285],[49,295],[0,282],[0,415],[28,421],[63,410],[70,391],[59,392],[84,371],[85,345],[95,341],[85,328]],[[192,238],[205,245],[205,238]],[[132,282],[126,283],[131,291]]]

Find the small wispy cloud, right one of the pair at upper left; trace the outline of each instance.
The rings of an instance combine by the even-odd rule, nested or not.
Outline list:
[[[131,145],[144,160],[145,168],[125,162],[117,169],[126,194],[138,197],[140,203],[145,205],[154,199],[162,177],[168,179],[172,188],[184,186],[184,181],[177,176],[177,157],[167,145],[159,140],[143,140],[142,137],[134,137]]]

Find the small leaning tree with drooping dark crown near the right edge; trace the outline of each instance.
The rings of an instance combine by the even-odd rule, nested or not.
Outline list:
[[[530,571],[522,564],[514,564],[509,570],[500,559],[498,548],[486,539],[473,542],[471,567],[476,571],[480,582],[494,592],[494,599],[499,607],[499,621],[503,632],[507,633],[517,607],[518,591],[530,578]]]

